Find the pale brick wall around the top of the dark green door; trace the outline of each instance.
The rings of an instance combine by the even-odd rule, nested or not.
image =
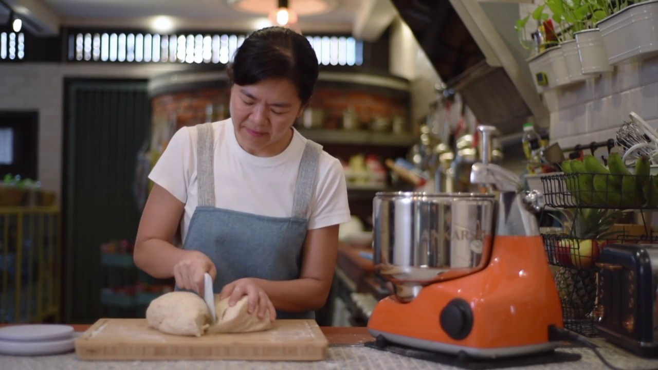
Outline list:
[[[25,63],[0,65],[0,110],[39,111],[38,179],[61,197],[64,78],[148,78],[182,66]]]

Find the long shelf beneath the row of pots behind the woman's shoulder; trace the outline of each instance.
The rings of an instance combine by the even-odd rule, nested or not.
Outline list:
[[[297,129],[300,134],[318,144],[386,145],[410,147],[416,142],[412,134],[391,132]]]

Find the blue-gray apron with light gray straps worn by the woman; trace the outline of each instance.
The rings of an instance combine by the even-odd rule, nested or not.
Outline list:
[[[215,207],[213,126],[197,126],[197,184],[199,203],[190,219],[184,250],[207,255],[217,269],[215,294],[240,278],[294,280],[299,278],[308,230],[307,211],[315,188],[322,146],[308,140],[304,148],[292,206],[292,217],[253,215]],[[263,184],[266,186],[266,184]],[[176,287],[176,290],[179,290]],[[314,311],[276,311],[278,319],[315,319]]]

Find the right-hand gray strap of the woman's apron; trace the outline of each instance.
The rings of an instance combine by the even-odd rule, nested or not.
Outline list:
[[[308,217],[309,205],[315,190],[315,174],[318,168],[322,145],[311,140],[306,141],[304,153],[299,162],[297,173],[297,185],[292,204],[292,217],[306,219]]]

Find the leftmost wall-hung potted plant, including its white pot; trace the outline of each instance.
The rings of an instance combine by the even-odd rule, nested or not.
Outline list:
[[[528,62],[528,67],[530,68],[530,73],[532,74],[532,80],[534,81],[538,93],[542,93],[547,90],[557,88],[558,86],[569,84],[571,82],[569,70],[567,69],[567,63],[562,53],[562,48],[559,44],[547,47],[542,50],[542,48],[550,44],[545,42],[542,43],[542,41],[528,42],[526,40],[525,26],[530,18],[536,20],[539,24],[542,24],[549,19],[549,15],[544,13],[545,7],[545,4],[540,5],[531,14],[528,14],[524,18],[517,20],[517,24],[515,26],[517,32],[519,33],[519,40],[523,47],[530,49],[530,45],[535,42],[538,43],[538,47],[540,48],[539,53],[526,59]],[[552,33],[553,31],[550,30],[550,32]]]

